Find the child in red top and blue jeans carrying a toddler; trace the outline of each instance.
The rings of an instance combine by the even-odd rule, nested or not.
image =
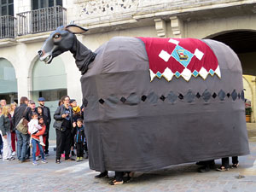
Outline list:
[[[32,114],[32,117],[34,116],[35,114]],[[38,114],[37,114],[38,116]],[[37,146],[40,150],[40,154],[42,156],[42,163],[47,163],[47,161],[45,160],[44,158],[44,148],[42,147],[41,144],[39,144],[39,137],[42,137],[44,135],[44,131],[46,129],[46,126],[44,125],[44,119],[43,117],[39,117],[38,118],[38,122],[40,125],[42,125],[41,129],[38,130],[38,132],[36,134],[32,134],[29,130],[28,130],[28,133],[31,134],[31,137],[32,137],[32,156],[33,156],[33,165],[34,166],[38,166],[38,162],[36,160],[36,153],[37,153]]]

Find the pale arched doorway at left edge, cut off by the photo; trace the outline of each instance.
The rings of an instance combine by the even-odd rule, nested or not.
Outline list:
[[[18,103],[17,98],[15,68],[8,60],[0,58],[0,99],[5,99],[7,103]]]

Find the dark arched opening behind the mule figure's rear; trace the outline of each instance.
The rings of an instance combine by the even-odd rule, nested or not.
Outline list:
[[[214,34],[208,38],[229,45],[238,55],[241,61],[242,73],[244,75],[243,83],[245,87],[245,96],[251,98],[253,108],[252,119],[254,122],[256,118],[256,31],[236,30],[222,32]]]

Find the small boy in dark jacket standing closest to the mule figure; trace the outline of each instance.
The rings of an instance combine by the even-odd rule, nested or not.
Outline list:
[[[77,162],[83,160],[84,156],[84,125],[83,119],[77,119],[73,122],[73,133],[75,135],[75,144],[77,147]]]

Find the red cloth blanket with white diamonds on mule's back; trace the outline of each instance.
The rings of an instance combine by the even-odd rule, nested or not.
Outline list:
[[[149,61],[151,81],[157,77],[172,80],[194,76],[206,79],[208,74],[221,78],[218,59],[212,49],[195,38],[140,38],[143,40]]]

